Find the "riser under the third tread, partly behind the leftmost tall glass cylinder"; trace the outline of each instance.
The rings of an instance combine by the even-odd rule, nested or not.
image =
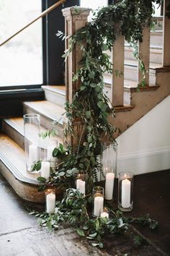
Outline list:
[[[38,111],[36,111],[35,109],[30,108],[29,106],[24,106],[24,113],[25,114],[31,114],[31,113],[36,113],[36,114],[40,114]],[[45,127],[45,129],[51,129],[52,128],[52,122],[53,120],[48,118],[47,116],[43,116],[40,114],[40,124],[42,127]],[[58,132],[58,137],[61,138],[61,140],[63,140],[63,125],[62,124],[58,124],[55,129]]]

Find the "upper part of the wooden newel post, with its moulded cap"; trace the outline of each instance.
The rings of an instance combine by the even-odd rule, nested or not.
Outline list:
[[[89,9],[82,7],[69,7],[63,9],[63,16],[65,17],[65,34],[74,35],[76,30],[84,27],[89,16]],[[69,46],[69,38],[65,41],[65,48]],[[66,101],[71,103],[73,95],[76,90],[80,88],[80,81],[73,82],[73,74],[79,69],[79,61],[81,60],[80,46],[75,46],[73,51],[66,59]]]

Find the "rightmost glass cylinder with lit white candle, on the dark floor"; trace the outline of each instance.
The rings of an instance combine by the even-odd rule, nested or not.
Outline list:
[[[122,171],[118,175],[118,208],[124,212],[133,210],[133,174]]]

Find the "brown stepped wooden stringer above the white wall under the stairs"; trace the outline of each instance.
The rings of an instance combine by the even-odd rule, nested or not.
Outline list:
[[[134,108],[131,111],[118,112],[115,118],[109,118],[109,121],[115,124],[115,127],[119,127],[121,132],[125,132],[126,129],[170,95],[170,69],[168,72],[167,69],[165,72],[164,68],[158,69],[156,73],[156,84],[159,85],[157,90],[143,90],[141,92],[132,90],[131,105]],[[115,137],[117,136],[118,134],[115,135]]]

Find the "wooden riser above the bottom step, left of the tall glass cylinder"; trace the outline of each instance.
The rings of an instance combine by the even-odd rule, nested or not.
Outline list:
[[[9,124],[6,124],[4,120],[2,121],[2,131],[24,149],[24,135],[11,127]]]

